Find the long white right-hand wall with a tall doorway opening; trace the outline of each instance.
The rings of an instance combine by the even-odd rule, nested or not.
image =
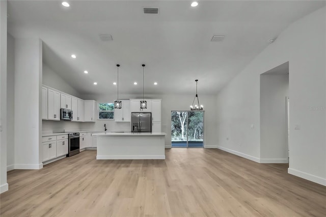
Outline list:
[[[326,185],[325,25],[325,8],[295,21],[218,94],[221,149],[260,161],[260,74],[289,61],[288,172]]]

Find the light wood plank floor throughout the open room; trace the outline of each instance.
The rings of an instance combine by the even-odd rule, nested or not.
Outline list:
[[[84,151],[8,172],[1,216],[325,216],[326,187],[217,149],[166,160],[96,160]]]

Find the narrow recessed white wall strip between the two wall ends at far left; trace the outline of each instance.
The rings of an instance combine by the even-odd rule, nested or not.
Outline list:
[[[15,39],[8,34],[8,47],[7,47],[7,170],[14,169],[14,76],[15,76],[15,56],[14,44]]]

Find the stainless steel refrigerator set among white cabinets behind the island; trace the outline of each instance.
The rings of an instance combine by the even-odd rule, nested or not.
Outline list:
[[[131,113],[131,132],[152,132],[152,113]]]

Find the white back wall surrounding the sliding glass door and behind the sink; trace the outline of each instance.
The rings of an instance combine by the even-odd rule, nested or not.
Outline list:
[[[98,102],[114,102],[115,94],[112,95],[84,95],[83,99],[94,99]],[[189,110],[195,93],[192,95],[145,95],[148,99],[162,99],[161,101],[161,130],[166,132],[166,147],[171,147],[171,111]],[[205,110],[205,147],[213,148],[216,146],[216,97],[214,95],[201,95],[198,93],[200,103],[204,105]],[[142,98],[139,95],[121,95],[120,99],[137,99]],[[130,131],[130,122],[121,123],[113,121],[97,120],[96,123],[83,123],[86,129],[103,130],[104,123],[108,131],[111,130],[128,130]]]

